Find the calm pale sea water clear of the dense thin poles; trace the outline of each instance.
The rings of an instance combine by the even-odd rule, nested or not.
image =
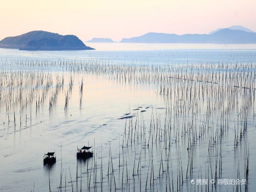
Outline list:
[[[157,44],[157,43],[86,43],[86,45],[96,48],[94,51],[19,51],[15,49],[0,49],[0,71],[5,73],[30,73],[36,72],[49,74],[53,76],[53,85],[56,76],[64,77],[64,87],[69,86],[70,76],[73,77],[74,87],[69,92],[68,108],[65,106],[65,89],[59,92],[56,105],[49,110],[49,101],[40,106],[38,109],[34,103],[31,108],[26,108],[21,112],[20,108],[12,109],[7,112],[1,108],[0,111],[0,191],[4,192],[21,192],[21,191],[48,191],[49,176],[51,191],[60,191],[61,177],[61,155],[60,146],[62,147],[62,187],[66,175],[66,190],[74,191],[88,190],[88,177],[92,177],[91,166],[93,160],[77,162],[76,149],[84,145],[93,146],[96,157],[98,172],[96,182],[91,178],[91,191],[101,191],[100,174],[101,160],[103,161],[103,191],[110,190],[113,185],[111,177],[107,176],[109,163],[109,145],[112,147],[113,168],[118,190],[129,191],[136,187],[139,191],[140,178],[142,177],[142,189],[145,189],[145,178],[147,176],[150,150],[154,149],[155,184],[148,189],[149,191],[165,191],[167,176],[158,177],[158,169],[161,156],[161,143],[152,145],[150,149],[143,149],[141,157],[141,177],[136,175],[132,177],[133,161],[135,151],[138,155],[141,153],[143,140],[146,136],[141,137],[138,144],[127,147],[125,151],[120,149],[120,143],[123,142],[123,131],[126,119],[124,113],[128,113],[129,108],[135,109],[142,107],[146,110],[143,113],[145,126],[149,128],[152,108],[161,115],[161,123],[164,123],[166,100],[159,95],[158,87],[149,83],[120,83],[114,77],[95,74],[80,74],[75,71],[66,71],[59,65],[26,65],[26,63],[54,63],[54,62],[99,62],[104,64],[117,64],[129,66],[192,66],[192,65],[221,65],[221,64],[244,64],[250,65],[256,63],[256,44]],[[200,69],[204,71],[205,69]],[[219,73],[221,69],[216,69],[212,73]],[[230,69],[232,70],[232,69]],[[240,69],[241,71],[247,69]],[[255,73],[256,71],[252,71]],[[80,97],[80,83],[83,80],[83,93]],[[1,86],[1,85],[0,85]],[[6,91],[6,87],[1,86],[1,91]],[[14,87],[14,89],[16,89]],[[81,99],[80,99],[81,98]],[[1,100],[5,98],[1,97]],[[81,102],[80,102],[81,101]],[[253,104],[254,105],[254,104]],[[154,112],[155,112],[154,111]],[[238,112],[239,113],[239,112]],[[237,114],[230,114],[230,127],[234,126],[234,119]],[[136,116],[136,112],[134,112]],[[14,123],[14,118],[16,122]],[[142,118],[142,116],[138,116]],[[198,118],[198,124],[202,121],[204,115]],[[214,121],[218,122],[218,115]],[[9,120],[8,120],[9,118]],[[27,119],[27,120],[26,120]],[[232,121],[231,121],[232,119]],[[256,187],[256,158],[254,147],[256,144],[255,120],[253,112],[250,111],[248,117],[248,133],[243,145],[235,150],[234,130],[226,134],[223,139],[223,178],[237,178],[237,166],[239,159],[243,159],[244,146],[250,143],[250,171],[248,191],[253,191]],[[21,122],[21,123],[20,123]],[[133,123],[135,118],[133,117]],[[140,122],[141,123],[141,122]],[[215,123],[215,122],[214,122]],[[232,124],[233,123],[233,124]],[[140,125],[141,126],[141,125]],[[176,126],[174,123],[173,126]],[[231,129],[231,128],[230,128]],[[139,132],[138,132],[139,133]],[[187,142],[180,140],[175,142],[176,135],[171,133],[171,159],[174,172],[177,172],[177,151],[181,152],[183,163],[183,174],[187,166]],[[148,137],[147,137],[148,138]],[[102,148],[101,148],[102,146]],[[121,152],[119,152],[121,150]],[[145,151],[144,151],[145,150]],[[146,151],[147,150],[147,151]],[[48,167],[43,165],[43,155],[48,151],[55,151],[57,162],[55,165]],[[121,153],[121,164],[124,158],[128,160],[129,168],[129,188],[121,189],[122,183],[122,166],[118,168],[119,153]],[[190,184],[192,178],[198,178],[200,168],[203,167],[203,177],[206,177],[206,163],[208,162],[208,140],[205,139],[197,144],[194,151],[195,174],[187,179],[181,187],[181,191],[193,191],[194,187]],[[102,155],[102,158],[101,158]],[[167,154],[165,154],[167,155]],[[125,157],[124,157],[125,156]],[[139,157],[136,157],[138,166]],[[216,153],[211,156],[213,159]],[[215,160],[215,159],[214,159]],[[167,159],[164,160],[164,162]],[[213,161],[215,163],[215,161]],[[88,169],[89,164],[89,169]],[[241,166],[243,162],[240,161]],[[116,166],[115,166],[116,165]],[[96,166],[96,167],[97,167]],[[165,165],[164,165],[165,166]],[[215,166],[215,165],[214,165]],[[166,168],[166,167],[165,167]],[[70,173],[69,173],[70,169]],[[120,171],[121,169],[121,171]],[[76,175],[78,170],[78,181]],[[81,170],[81,174],[80,174]],[[89,170],[89,173],[88,173]],[[92,172],[92,171],[91,171]],[[200,174],[202,174],[200,172]],[[72,184],[71,178],[72,176]],[[81,177],[80,177],[81,175]],[[93,176],[95,170],[93,170]],[[244,178],[241,173],[241,178]],[[174,179],[176,183],[177,178]],[[248,181],[249,182],[249,181]],[[80,184],[81,183],[81,184]],[[95,184],[96,183],[96,184]],[[134,183],[134,186],[133,186]],[[96,185],[96,187],[93,187]],[[149,185],[149,184],[148,184]],[[169,184],[168,184],[169,185]],[[149,188],[149,186],[148,186]],[[201,188],[200,188],[201,189]],[[210,187],[210,191],[232,191],[229,187]],[[62,188],[64,190],[64,188]],[[113,186],[112,186],[113,190]],[[205,187],[202,188],[206,190]],[[244,188],[242,189],[244,190]],[[176,191],[176,188],[175,188]]]

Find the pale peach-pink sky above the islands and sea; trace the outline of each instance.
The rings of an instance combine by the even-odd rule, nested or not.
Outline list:
[[[241,25],[256,31],[256,0],[0,0],[0,39],[33,30],[82,41],[120,41],[147,32],[209,33]]]

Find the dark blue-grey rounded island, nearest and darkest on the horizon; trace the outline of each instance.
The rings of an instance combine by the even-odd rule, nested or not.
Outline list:
[[[0,41],[0,48],[33,51],[94,50],[94,48],[87,47],[75,35],[59,35],[46,31],[32,31],[15,37],[6,37]]]

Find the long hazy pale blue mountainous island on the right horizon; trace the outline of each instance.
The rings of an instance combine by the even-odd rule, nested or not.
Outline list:
[[[256,32],[249,30],[242,26],[232,26],[210,34],[177,35],[149,32],[139,37],[123,38],[121,43],[256,43]]]

